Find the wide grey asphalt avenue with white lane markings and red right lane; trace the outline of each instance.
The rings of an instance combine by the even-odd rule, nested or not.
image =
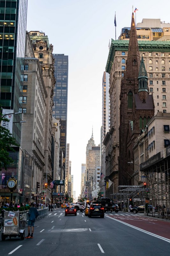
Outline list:
[[[170,221],[142,213],[105,213],[102,219],[81,212],[65,216],[64,211],[56,209],[36,221],[33,239],[0,240],[1,256],[170,255]]]

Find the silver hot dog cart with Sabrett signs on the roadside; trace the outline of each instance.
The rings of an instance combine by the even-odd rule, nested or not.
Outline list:
[[[21,240],[25,238],[25,229],[20,229],[19,211],[4,212],[4,228],[1,234],[2,241],[6,237],[20,237]]]

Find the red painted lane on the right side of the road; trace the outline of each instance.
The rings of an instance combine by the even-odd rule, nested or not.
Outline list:
[[[109,217],[130,224],[134,227],[141,228],[145,231],[170,239],[170,221],[159,220],[146,216],[113,216]]]

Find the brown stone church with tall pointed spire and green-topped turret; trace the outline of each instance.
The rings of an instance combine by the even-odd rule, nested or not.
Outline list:
[[[126,71],[121,81],[120,93],[119,185],[133,185],[133,167],[131,165],[129,168],[128,162],[133,161],[134,158],[134,140],[141,129],[144,129],[144,125],[141,128],[139,122],[141,124],[141,118],[142,120],[146,118],[147,122],[153,115],[153,96],[148,95],[148,77],[143,59],[140,61],[134,13],[132,13]]]

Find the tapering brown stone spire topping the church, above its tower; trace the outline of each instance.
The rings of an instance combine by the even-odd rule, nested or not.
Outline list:
[[[126,78],[136,78],[139,74],[140,67],[140,56],[137,43],[137,32],[135,26],[134,13],[132,12],[132,21],[130,28],[130,38],[129,38],[129,49],[128,57],[126,61]]]

